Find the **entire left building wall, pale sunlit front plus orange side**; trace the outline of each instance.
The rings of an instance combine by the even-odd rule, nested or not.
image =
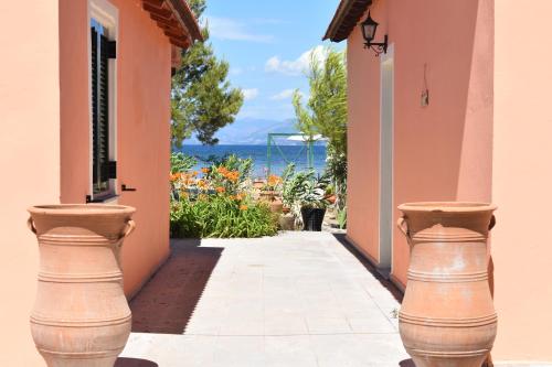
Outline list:
[[[138,229],[123,253],[131,294],[169,252],[170,44],[138,0],[114,4],[119,184],[138,188],[118,201],[138,208]],[[0,41],[9,50],[0,68],[0,365],[41,366],[29,326],[38,246],[25,209],[83,203],[88,194],[87,0],[1,1],[0,14]]]

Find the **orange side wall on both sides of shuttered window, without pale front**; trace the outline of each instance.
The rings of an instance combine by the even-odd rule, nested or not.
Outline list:
[[[131,295],[169,255],[171,47],[141,1],[110,3],[118,9],[115,203],[138,209],[121,255]],[[89,26],[88,0],[60,0],[63,203],[91,194]],[[121,184],[137,191],[121,192]]]

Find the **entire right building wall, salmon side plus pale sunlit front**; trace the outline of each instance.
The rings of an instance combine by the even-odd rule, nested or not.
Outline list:
[[[550,34],[551,12],[548,0],[521,8],[513,0],[372,6],[379,36],[386,31],[394,45],[395,205],[452,199],[499,206],[491,244],[499,314],[492,359],[499,364],[552,363],[552,288],[545,283],[552,247],[543,237],[552,204],[552,52],[538,41]],[[348,235],[378,260],[380,61],[362,48],[358,29],[348,46]],[[424,64],[428,107],[421,106]],[[393,277],[404,285],[408,248],[397,230],[393,250]]]

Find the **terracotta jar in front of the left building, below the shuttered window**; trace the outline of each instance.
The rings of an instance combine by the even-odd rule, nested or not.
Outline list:
[[[45,205],[29,208],[40,269],[31,332],[50,367],[113,367],[130,334],[119,250],[134,208]]]

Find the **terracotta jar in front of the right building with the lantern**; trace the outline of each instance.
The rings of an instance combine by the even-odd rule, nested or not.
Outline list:
[[[411,246],[399,327],[416,367],[480,367],[497,333],[488,283],[487,237],[496,206],[399,206]]]

